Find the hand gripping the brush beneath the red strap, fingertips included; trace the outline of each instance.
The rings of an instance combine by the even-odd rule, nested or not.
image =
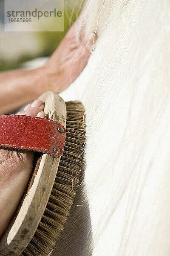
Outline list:
[[[36,100],[17,115],[45,118],[44,104]],[[14,214],[31,175],[34,152],[0,149],[0,237]]]

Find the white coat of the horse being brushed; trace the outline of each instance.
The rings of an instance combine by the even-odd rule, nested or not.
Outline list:
[[[168,256],[170,1],[89,0],[83,24],[98,40],[71,85],[87,125],[85,196],[74,216],[88,202],[91,224],[81,232],[91,244],[78,241],[79,252],[65,255]]]

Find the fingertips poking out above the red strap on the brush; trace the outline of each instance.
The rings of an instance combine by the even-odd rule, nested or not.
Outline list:
[[[17,113],[17,115],[25,115],[25,116],[37,116],[37,117],[45,117],[44,103],[41,100],[35,100],[34,102],[28,104],[23,111]]]

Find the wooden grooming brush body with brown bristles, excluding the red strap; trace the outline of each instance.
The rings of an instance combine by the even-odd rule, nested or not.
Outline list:
[[[54,153],[62,156],[35,154],[26,192],[0,240],[0,256],[48,256],[79,185],[85,139],[83,105],[64,102],[53,92],[43,93],[39,99],[45,102],[47,118],[59,123],[59,136],[64,136],[66,128],[64,151],[62,154],[56,145]]]

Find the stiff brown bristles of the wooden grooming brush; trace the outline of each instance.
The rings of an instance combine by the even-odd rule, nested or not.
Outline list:
[[[47,256],[56,244],[74,201],[82,167],[85,139],[84,108],[81,102],[65,102],[66,141],[47,207],[34,237],[20,256]]]

